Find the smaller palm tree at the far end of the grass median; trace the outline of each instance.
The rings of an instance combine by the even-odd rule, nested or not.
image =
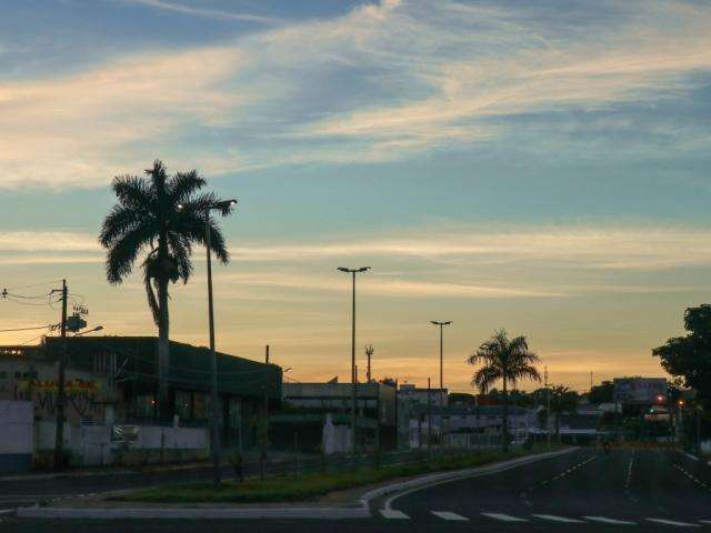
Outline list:
[[[471,384],[485,394],[497,381],[503,382],[503,430],[501,444],[504,452],[509,450],[509,383],[522,379],[541,381],[533,366],[539,362],[538,355],[529,352],[525,336],[509,339],[505,330],[497,331],[491,339],[482,343],[467,360],[469,364],[482,366],[474,372]]]

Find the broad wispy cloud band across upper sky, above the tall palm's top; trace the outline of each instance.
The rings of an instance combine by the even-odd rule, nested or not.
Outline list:
[[[0,187],[102,185],[158,153],[208,173],[397,160],[505,139],[522,125],[499,119],[521,113],[683,98],[697,87],[692,74],[711,70],[707,6],[599,3],[588,17],[555,26],[537,9],[368,3],[219,46],[147,51],[71,76],[0,83]],[[572,141],[555,142],[558,151]],[[710,141],[680,142],[702,150]]]

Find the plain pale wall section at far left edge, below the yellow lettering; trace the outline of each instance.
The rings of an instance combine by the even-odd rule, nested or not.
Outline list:
[[[32,402],[0,400],[0,473],[30,470]]]

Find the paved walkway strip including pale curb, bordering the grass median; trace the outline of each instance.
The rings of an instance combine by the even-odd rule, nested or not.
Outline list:
[[[562,455],[573,447],[555,452],[527,455],[471,469],[430,473],[395,479],[377,485],[360,486],[332,492],[316,502],[294,503],[137,503],[106,500],[108,494],[72,497],[57,502],[51,507],[21,507],[19,517],[31,519],[363,519],[371,515],[371,505],[382,496],[395,492],[423,487],[462,477],[488,475],[534,461]],[[117,491],[126,493],[128,491]]]

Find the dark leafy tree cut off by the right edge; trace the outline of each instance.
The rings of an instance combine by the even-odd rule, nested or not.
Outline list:
[[[694,389],[699,400],[711,403],[711,305],[688,308],[684,312],[685,336],[669,339],[652,350],[662,368],[683,378],[683,385]]]

